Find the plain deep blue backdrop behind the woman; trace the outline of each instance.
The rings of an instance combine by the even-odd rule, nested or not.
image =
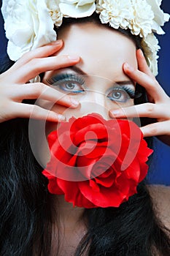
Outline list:
[[[1,1],[0,1],[1,4]],[[162,9],[170,13],[170,1],[163,0]],[[165,35],[158,36],[161,50],[159,52],[159,75],[158,82],[170,96],[170,22],[163,27]],[[0,13],[0,59],[7,56],[7,39],[4,35],[4,22]],[[165,110],[166,111],[166,110]],[[170,185],[170,147],[159,140],[154,140],[155,153],[152,158],[152,171],[148,179],[152,184]]]

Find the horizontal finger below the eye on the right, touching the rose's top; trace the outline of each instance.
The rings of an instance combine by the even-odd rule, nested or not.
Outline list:
[[[166,111],[165,111],[166,109]],[[110,110],[109,115],[112,118],[133,118],[133,117],[150,117],[150,118],[169,118],[169,105],[144,103],[127,108]]]

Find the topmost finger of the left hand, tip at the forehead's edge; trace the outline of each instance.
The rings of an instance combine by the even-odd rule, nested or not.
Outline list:
[[[31,61],[31,59],[45,58],[47,56],[50,56],[56,51],[60,50],[62,46],[63,41],[60,39],[54,42],[50,42],[50,44],[44,45],[34,50],[30,50],[28,53],[23,54],[23,56],[18,59],[17,62],[15,62],[15,64],[11,67],[11,70],[13,71],[15,69],[18,69],[19,67],[22,67],[28,61]]]

